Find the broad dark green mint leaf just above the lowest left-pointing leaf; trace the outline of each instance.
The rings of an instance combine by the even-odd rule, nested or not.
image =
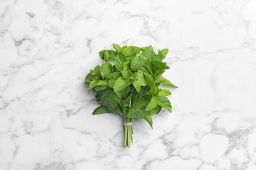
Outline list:
[[[116,108],[117,103],[119,102],[119,97],[113,90],[108,90],[102,94],[101,101],[102,105],[108,108],[108,110],[111,112]]]

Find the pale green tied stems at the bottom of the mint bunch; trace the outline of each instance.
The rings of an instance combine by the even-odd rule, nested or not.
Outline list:
[[[125,122],[125,146],[128,146],[128,148],[131,146],[131,143],[133,143],[133,126],[131,123],[133,122],[132,118],[124,117]]]

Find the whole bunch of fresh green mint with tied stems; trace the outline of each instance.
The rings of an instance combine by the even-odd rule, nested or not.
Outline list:
[[[89,90],[96,91],[100,105],[93,114],[121,114],[125,125],[125,146],[133,142],[133,119],[143,118],[152,127],[152,115],[163,107],[171,112],[171,103],[166,97],[169,90],[159,88],[166,84],[177,88],[163,73],[169,69],[162,62],[168,49],[154,52],[152,46],[137,47],[113,44],[115,50],[102,50],[98,54],[106,61],[90,70],[85,81]]]

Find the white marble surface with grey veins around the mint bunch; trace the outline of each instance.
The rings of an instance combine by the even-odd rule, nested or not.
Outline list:
[[[256,169],[256,1],[0,1],[0,169]],[[173,113],[93,116],[113,42],[169,48]]]

